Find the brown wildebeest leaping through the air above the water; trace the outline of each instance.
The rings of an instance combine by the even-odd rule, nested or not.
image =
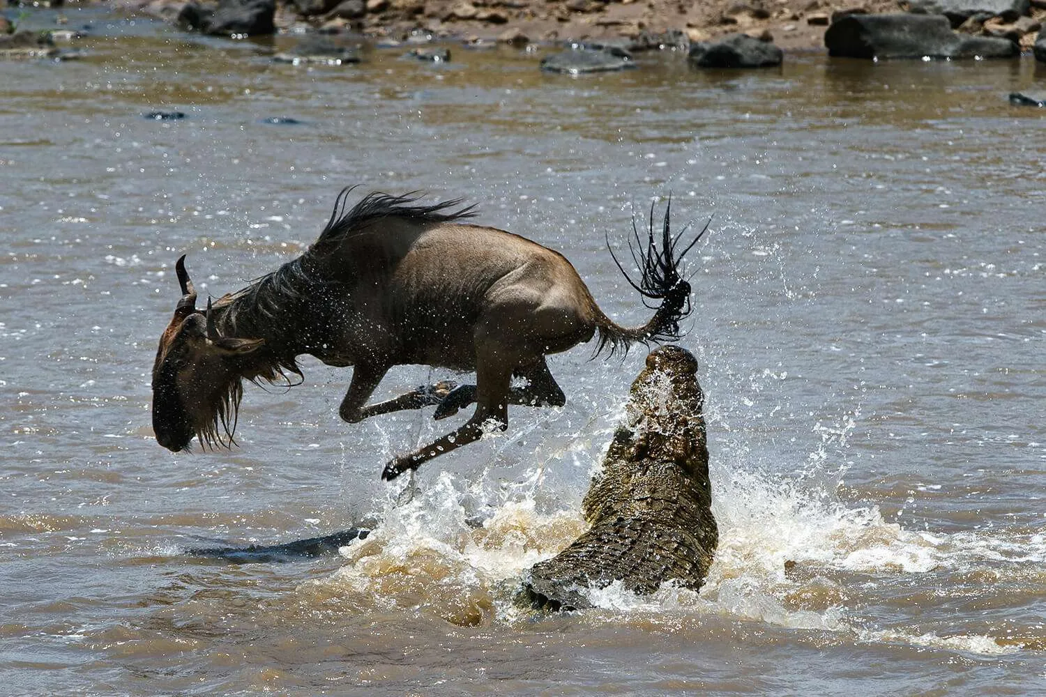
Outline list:
[[[702,230],[680,249],[665,208],[660,246],[654,209],[645,242],[633,218],[630,239],[644,303],[659,301],[651,320],[622,327],[596,305],[563,255],[495,228],[467,224],[460,200],[422,204],[413,193],[369,193],[348,212],[351,187],[338,194],[319,238],[300,257],[247,287],[197,309],[184,255],[175,264],[182,298],[160,336],[153,366],[153,429],[164,447],[231,447],[243,380],[301,378],[297,356],[354,366],[339,414],[349,423],[435,404],[445,418],[476,402],[464,424],[395,458],[391,480],[438,455],[504,429],[508,404],[560,406],[563,390],[545,355],[588,342],[595,353],[633,342],[674,341],[690,312],[690,285],[680,261]],[[609,248],[609,242],[608,242]],[[650,306],[650,305],[649,305]],[[422,364],[476,371],[475,385],[444,381],[367,405],[392,366]],[[513,386],[513,378],[525,385]]]

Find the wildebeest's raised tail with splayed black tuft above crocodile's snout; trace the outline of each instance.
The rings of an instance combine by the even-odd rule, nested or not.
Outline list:
[[[632,218],[632,237],[629,238],[629,251],[632,253],[632,260],[639,270],[638,279],[633,278],[632,274],[624,270],[610,245],[608,235],[607,249],[610,250],[614,263],[617,264],[629,284],[642,296],[643,304],[655,311],[654,317],[642,326],[622,327],[596,307],[595,323],[599,331],[599,340],[594,355],[598,355],[604,349],[609,349],[610,355],[613,355],[618,348],[628,352],[629,346],[635,342],[643,344],[674,342],[683,335],[684,332],[680,329],[679,323],[690,313],[692,306],[690,304],[690,284],[680,275],[681,264],[686,253],[708,231],[708,225],[711,220],[706,223],[701,232],[680,251],[680,241],[686,234],[686,228],[673,237],[668,226],[672,198],[669,196],[668,204],[664,209],[661,234],[656,235],[654,231],[654,204],[651,204],[645,243],[636,227],[635,216]],[[657,239],[658,236],[660,236],[660,240]]]

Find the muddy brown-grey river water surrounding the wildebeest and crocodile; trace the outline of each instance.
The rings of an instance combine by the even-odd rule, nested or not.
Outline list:
[[[1046,693],[1046,112],[1006,100],[1046,67],[570,78],[451,46],[309,68],[65,15],[92,27],[81,60],[0,63],[0,694]],[[682,342],[721,531],[700,594],[513,602],[583,529],[641,349],[553,356],[567,405],[513,408],[412,497],[382,465],[448,422],[342,423],[350,370],[313,359],[248,386],[238,448],[156,443],[176,258],[201,297],[235,291],[349,184],[477,203],[631,324],[649,310],[605,233],[669,193],[679,226],[712,217]],[[378,396],[445,377],[401,368]],[[187,554],[367,519],[318,560]]]

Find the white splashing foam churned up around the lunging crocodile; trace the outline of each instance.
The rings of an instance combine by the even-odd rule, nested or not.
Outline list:
[[[587,589],[586,595],[596,607],[611,612],[607,621],[684,611],[840,632],[859,642],[902,642],[984,655],[1020,650],[984,634],[938,636],[877,629],[846,609],[848,596],[874,593],[873,585],[864,589],[846,585],[852,574],[998,572],[1007,564],[1026,568],[1029,562],[1046,560],[1046,535],[913,532],[884,519],[876,506],[838,502],[834,491],[844,468],[834,467],[838,458],[833,454],[845,447],[854,422],[852,415],[845,415],[838,427],[819,426],[821,445],[798,474],[761,471],[738,444],[729,444],[738,445],[730,449],[732,455],[713,459],[720,542],[700,593],[667,583],[638,597],[615,582]],[[505,450],[496,448],[493,457],[501,457],[544,423],[523,424],[523,435],[503,439],[499,448]],[[591,421],[586,424],[591,426]],[[577,501],[550,499],[547,491],[543,493],[546,465],[563,469],[571,460],[575,465],[597,463],[609,440],[606,429],[599,431],[598,437],[575,434],[554,445],[549,444],[554,439],[536,439],[533,452],[541,457],[530,462],[541,464],[524,466],[509,483],[498,482],[488,472],[467,482],[442,471],[409,503],[397,505],[390,493],[377,515],[381,526],[366,540],[343,548],[345,565],[320,584],[328,586],[327,593],[356,598],[361,605],[406,605],[451,622],[511,622],[520,610],[513,607],[504,588],[518,587],[517,579],[527,568],[553,556],[585,529]],[[578,448],[587,451],[579,454]],[[539,496],[545,496],[540,504]],[[482,527],[476,527],[477,518]]]

